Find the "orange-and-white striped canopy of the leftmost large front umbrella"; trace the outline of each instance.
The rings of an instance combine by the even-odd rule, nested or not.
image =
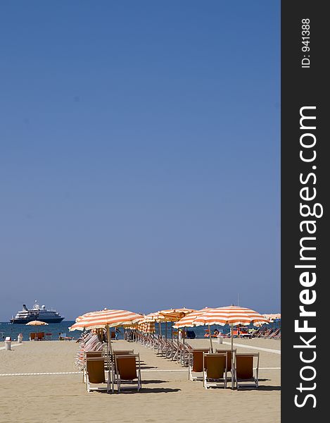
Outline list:
[[[127,310],[103,309],[99,312],[89,312],[77,317],[75,324],[70,326],[70,331],[82,331],[84,329],[99,329],[115,326],[124,326],[137,323],[143,319],[141,314]]]

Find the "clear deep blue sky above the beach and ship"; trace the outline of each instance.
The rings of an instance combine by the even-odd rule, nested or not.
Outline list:
[[[0,321],[280,309],[279,1],[2,1]]]

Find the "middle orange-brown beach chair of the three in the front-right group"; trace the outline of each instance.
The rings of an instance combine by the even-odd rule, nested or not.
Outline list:
[[[227,353],[203,353],[204,388],[227,388]]]

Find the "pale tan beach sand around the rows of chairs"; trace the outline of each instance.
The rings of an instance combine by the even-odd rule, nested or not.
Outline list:
[[[227,340],[226,340],[227,341]],[[194,347],[208,340],[189,340]],[[236,343],[238,352],[260,352],[260,387],[236,391],[203,388],[189,381],[188,369],[161,357],[138,343],[114,341],[115,349],[140,353],[142,390],[106,394],[87,393],[74,357],[77,343],[71,341],[24,342],[11,351],[0,350],[0,422],[280,422],[281,341],[251,339]],[[0,347],[4,343],[0,343]],[[218,345],[217,348],[228,348]],[[268,350],[274,350],[270,352]],[[72,372],[4,376],[42,372]]]

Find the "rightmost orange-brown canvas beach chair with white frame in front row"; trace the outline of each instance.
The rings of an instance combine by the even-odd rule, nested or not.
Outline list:
[[[258,388],[258,374],[259,353],[236,354],[234,384],[237,389]]]

